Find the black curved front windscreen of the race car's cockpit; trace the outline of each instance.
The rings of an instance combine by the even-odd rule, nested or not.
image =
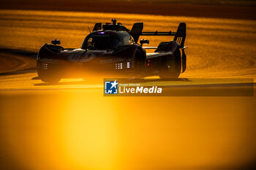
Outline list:
[[[113,50],[119,47],[119,42],[118,36],[109,34],[91,34],[91,36],[86,37],[82,48],[90,48],[93,50]]]

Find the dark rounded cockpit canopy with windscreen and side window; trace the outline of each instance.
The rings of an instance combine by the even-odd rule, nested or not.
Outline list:
[[[114,50],[118,47],[134,44],[134,39],[127,31],[94,31],[83,40],[82,49]]]

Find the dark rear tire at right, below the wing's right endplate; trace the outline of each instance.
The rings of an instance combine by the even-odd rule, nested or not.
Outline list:
[[[174,56],[165,58],[159,77],[162,79],[178,78],[181,73],[181,52],[177,49]]]

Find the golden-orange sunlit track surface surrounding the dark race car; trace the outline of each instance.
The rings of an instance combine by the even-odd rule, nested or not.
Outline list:
[[[34,53],[39,47],[56,38],[64,47],[80,47],[89,34],[88,26],[110,22],[113,17],[128,28],[144,22],[145,31],[176,31],[178,23],[186,22],[185,45],[189,48],[187,71],[181,74],[181,80],[196,78],[190,84],[204,85],[205,78],[230,78],[225,81],[232,85],[236,84],[232,79],[256,77],[255,20],[1,10],[0,61],[4,64],[0,69],[0,166],[253,166],[255,96],[104,97],[102,80],[95,80],[91,74],[85,79],[64,79],[56,85],[37,80]],[[170,40],[149,38],[150,46]],[[151,83],[187,85],[182,81]]]

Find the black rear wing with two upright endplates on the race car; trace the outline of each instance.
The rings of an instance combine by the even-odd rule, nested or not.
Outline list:
[[[180,23],[176,32],[143,32],[143,23],[135,23],[132,26],[130,34],[135,39],[136,43],[138,43],[140,36],[174,36],[173,41],[178,42],[183,48],[186,39],[186,23]]]

